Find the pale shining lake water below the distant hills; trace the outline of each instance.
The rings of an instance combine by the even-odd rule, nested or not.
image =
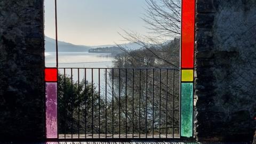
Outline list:
[[[89,52],[59,52],[59,68],[74,68],[73,80],[78,80],[78,70],[75,68],[111,68],[113,66],[114,56],[106,53],[89,53]],[[45,66],[56,67],[56,53],[45,52]],[[59,70],[60,74],[63,74],[63,70]],[[101,93],[105,90],[105,69],[93,69],[93,83],[99,87]],[[79,70],[79,81],[81,82],[85,78],[85,70]],[[71,76],[71,70],[66,69],[66,75]],[[108,76],[107,76],[108,77]],[[100,78],[100,79],[99,79]],[[86,80],[92,82],[92,70],[86,69]]]

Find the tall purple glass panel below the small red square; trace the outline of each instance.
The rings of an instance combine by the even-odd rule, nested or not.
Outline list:
[[[46,138],[58,138],[57,83],[46,83]]]

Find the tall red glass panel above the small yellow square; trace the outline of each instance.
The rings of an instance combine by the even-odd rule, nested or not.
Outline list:
[[[195,0],[182,0],[181,68],[194,68]]]

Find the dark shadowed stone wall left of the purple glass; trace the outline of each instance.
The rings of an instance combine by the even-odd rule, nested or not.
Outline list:
[[[0,1],[0,141],[44,139],[43,0]]]

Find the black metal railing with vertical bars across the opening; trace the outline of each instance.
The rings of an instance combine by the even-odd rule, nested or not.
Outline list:
[[[178,68],[59,68],[59,139],[179,138]]]

